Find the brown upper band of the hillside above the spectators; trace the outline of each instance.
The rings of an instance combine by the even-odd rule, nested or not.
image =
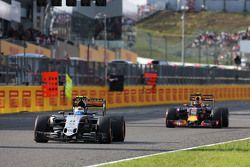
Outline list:
[[[178,12],[161,11],[137,24],[137,28],[154,35],[180,36],[181,15]],[[185,16],[185,33],[188,35],[206,31],[238,32],[250,26],[249,13],[188,12]]]

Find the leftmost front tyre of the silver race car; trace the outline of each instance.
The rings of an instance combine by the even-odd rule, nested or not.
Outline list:
[[[49,117],[39,115],[36,117],[35,126],[34,126],[34,140],[37,143],[47,143],[48,138],[44,135],[44,132],[49,132]]]

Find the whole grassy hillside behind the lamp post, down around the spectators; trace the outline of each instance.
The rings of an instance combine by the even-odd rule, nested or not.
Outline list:
[[[180,12],[161,11],[137,23],[136,51],[141,57],[158,60],[181,61]],[[192,48],[193,41],[201,33],[246,31],[250,27],[250,13],[187,12],[185,15],[185,62],[214,63],[225,54],[222,64],[232,64],[228,55],[230,46],[202,46]]]

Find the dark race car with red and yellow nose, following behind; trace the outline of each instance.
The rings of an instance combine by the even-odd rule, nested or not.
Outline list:
[[[211,127],[229,125],[228,108],[215,108],[213,95],[195,93],[190,95],[190,104],[169,108],[166,111],[166,127]]]

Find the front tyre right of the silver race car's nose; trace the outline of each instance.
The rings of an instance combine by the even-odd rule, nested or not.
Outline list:
[[[99,118],[98,132],[101,134],[100,143],[110,144],[112,142],[110,117],[104,116]]]

